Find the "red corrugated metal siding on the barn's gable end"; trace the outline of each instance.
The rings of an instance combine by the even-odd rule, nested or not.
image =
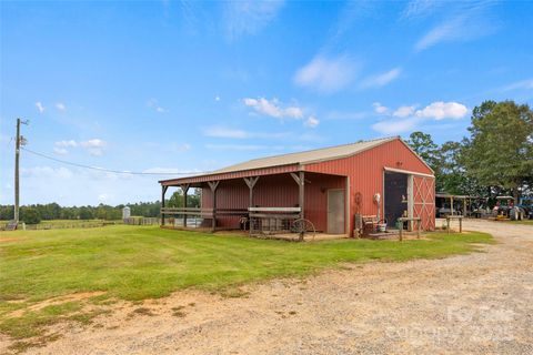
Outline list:
[[[355,194],[362,196],[360,211],[362,214],[376,214],[378,206],[373,203],[374,193],[379,192],[383,196],[383,169],[393,168],[432,174],[433,172],[400,140],[394,140],[385,144],[375,146],[361,154],[305,165],[305,171],[312,171],[325,174],[343,174],[350,176],[350,231],[353,230],[353,214],[355,206]],[[431,178],[428,178],[433,180]],[[433,183],[434,186],[434,183]],[[386,199],[386,196],[385,196]],[[431,199],[434,199],[434,190],[431,192]],[[383,199],[381,202],[383,213]],[[429,230],[434,227],[433,216],[422,215],[423,225]],[[433,227],[431,227],[433,226]]]

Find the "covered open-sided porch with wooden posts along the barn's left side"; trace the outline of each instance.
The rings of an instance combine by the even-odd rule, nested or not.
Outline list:
[[[282,168],[160,181],[161,225],[282,235],[296,232],[294,223],[303,220],[316,233],[345,236],[350,215],[348,178]],[[184,207],[164,205],[169,187],[182,190]],[[201,191],[200,207],[188,206],[191,189]]]

